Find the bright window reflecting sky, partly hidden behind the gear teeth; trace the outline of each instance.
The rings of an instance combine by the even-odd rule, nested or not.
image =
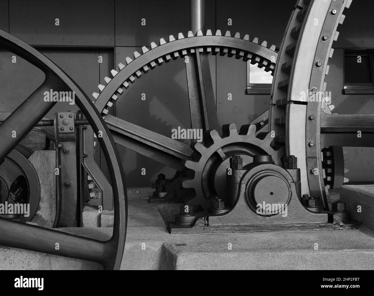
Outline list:
[[[279,49],[275,50],[277,53]],[[267,94],[269,95],[272,89],[273,76],[271,72],[265,72],[264,68],[258,68],[257,64],[252,65],[247,61],[247,95],[253,94]]]

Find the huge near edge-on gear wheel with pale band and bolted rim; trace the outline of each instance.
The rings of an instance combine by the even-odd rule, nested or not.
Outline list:
[[[337,27],[345,18],[343,10],[351,2],[297,1],[279,50],[272,84],[269,130],[276,135],[273,144],[284,146],[286,153],[298,158],[302,194],[322,197],[319,206],[326,210],[327,189],[348,181],[344,178],[347,170],[341,146],[362,147],[370,143],[358,143],[354,138],[354,125],[361,122],[350,124],[349,115],[331,114],[333,107],[326,106],[323,100],[304,100],[301,93],[327,90],[325,75],[334,52],[332,44],[339,35]],[[316,19],[320,22],[318,26],[314,24]],[[338,132],[337,126],[341,127]]]

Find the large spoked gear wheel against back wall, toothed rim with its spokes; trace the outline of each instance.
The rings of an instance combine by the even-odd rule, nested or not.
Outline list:
[[[207,30],[205,35],[200,30],[195,35],[189,31],[186,37],[179,33],[177,39],[170,35],[168,42],[161,38],[159,45],[152,42],[150,47],[150,50],[142,47],[142,54],[134,52],[134,59],[127,57],[126,65],[118,65],[119,71],[111,70],[113,78],[105,77],[107,85],[99,84],[99,93],[93,93],[95,106],[103,115],[117,144],[181,172],[186,169],[183,162],[194,160],[196,156],[196,152],[189,145],[117,118],[109,114],[108,108],[113,106],[119,95],[125,95],[124,90],[128,89],[136,78],[154,69],[156,65],[160,66],[177,58],[184,58],[186,61],[188,56],[186,74],[191,127],[204,132],[221,131],[218,126],[208,55],[211,53],[234,56],[273,73],[278,54],[275,52],[275,45],[267,47],[266,41],[259,44],[257,37],[249,41],[249,35],[240,38],[240,34],[236,33],[232,37],[229,31],[222,34],[220,30],[215,34]]]

